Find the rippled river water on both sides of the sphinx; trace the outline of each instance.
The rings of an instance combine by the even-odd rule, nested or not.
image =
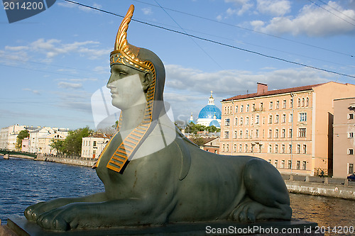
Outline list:
[[[23,216],[33,203],[58,197],[85,196],[104,191],[94,169],[31,159],[0,156],[0,219]],[[355,227],[355,201],[290,194],[293,218],[317,222],[323,229]],[[327,231],[326,231],[327,232]],[[355,235],[355,231],[354,231]]]

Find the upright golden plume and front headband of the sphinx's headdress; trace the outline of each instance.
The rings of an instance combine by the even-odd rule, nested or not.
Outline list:
[[[127,41],[127,30],[133,16],[134,6],[129,7],[126,16],[119,26],[119,31],[116,35],[114,51],[110,55],[110,64],[124,64],[134,69],[140,69],[143,72],[151,71],[151,65],[148,62],[143,62],[138,59],[139,47],[130,45]]]

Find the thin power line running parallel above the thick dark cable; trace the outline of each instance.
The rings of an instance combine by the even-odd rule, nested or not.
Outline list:
[[[148,4],[148,3],[144,2],[144,1],[139,1],[139,0],[133,0],[133,1],[137,1],[137,2],[139,2],[141,4],[147,4],[147,5],[150,5],[150,6],[159,7],[159,6],[156,6],[154,4]],[[203,16],[197,16],[195,14],[186,13],[186,12],[178,11],[178,10],[175,10],[175,9],[168,9],[168,8],[165,8],[165,7],[163,7],[163,9],[166,9],[166,10],[169,10],[169,11],[175,11],[175,12],[178,12],[178,13],[182,13],[182,14],[185,14],[187,16],[193,16],[193,17],[201,18],[201,19],[206,20],[206,21],[212,21],[214,23],[220,23],[220,24],[225,25],[225,26],[231,26],[231,27],[234,27],[234,28],[240,28],[242,30],[248,30],[248,31],[251,31],[253,33],[259,33],[261,35],[267,35],[267,36],[270,36],[270,37],[273,37],[273,38],[286,40],[286,41],[289,41],[289,42],[292,42],[292,43],[297,43],[297,44],[305,45],[305,46],[308,46],[308,47],[315,47],[315,48],[318,48],[320,50],[325,50],[325,51],[328,51],[328,52],[334,52],[334,53],[337,53],[337,54],[340,54],[340,55],[346,55],[346,56],[349,56],[349,57],[353,57],[353,55],[350,55],[350,54],[345,53],[345,52],[339,52],[339,51],[335,51],[335,50],[330,50],[328,48],[319,47],[317,45],[311,45],[311,44],[308,44],[308,43],[303,43],[303,42],[300,42],[300,41],[297,41],[297,40],[292,40],[290,38],[283,38],[283,37],[280,37],[280,36],[277,36],[277,35],[272,35],[270,33],[263,33],[261,31],[252,30],[250,28],[245,28],[245,27],[241,27],[241,26],[236,26],[236,25],[233,25],[233,24],[230,24],[230,23],[224,23],[224,22],[221,22],[221,21],[216,21],[216,20],[213,20],[213,19],[210,19],[210,18],[206,18],[206,17],[203,17]]]

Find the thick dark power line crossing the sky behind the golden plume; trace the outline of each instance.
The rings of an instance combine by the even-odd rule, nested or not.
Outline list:
[[[80,4],[76,1],[71,1],[71,0],[64,0],[64,1],[68,1],[72,4],[77,4],[77,5],[80,5],[80,6],[84,6],[84,7],[87,7],[89,9],[94,9],[94,10],[97,10],[97,11],[102,11],[104,13],[109,13],[111,15],[114,15],[114,16],[119,16],[121,18],[124,18],[124,16],[121,16],[119,14],[116,14],[116,13],[112,13],[112,12],[109,12],[109,11],[104,11],[102,9],[97,9],[96,7],[93,7],[93,6],[88,6],[88,5],[85,5],[85,4]],[[252,50],[247,50],[247,49],[244,49],[242,47],[236,47],[236,46],[233,46],[233,45],[228,45],[226,43],[221,43],[221,42],[217,42],[215,40],[209,40],[208,38],[202,38],[202,37],[199,37],[199,36],[196,36],[196,35],[192,35],[192,34],[188,34],[188,33],[184,33],[184,32],[181,32],[181,31],[178,31],[178,30],[172,30],[170,28],[165,28],[163,26],[157,26],[157,25],[154,25],[152,23],[147,23],[147,22],[144,22],[144,21],[138,21],[136,19],[131,19],[131,21],[135,21],[135,22],[138,22],[138,23],[142,23],[142,24],[145,24],[147,26],[153,26],[155,28],[160,28],[160,29],[163,29],[163,30],[168,30],[170,32],[173,32],[173,33],[179,33],[180,35],[186,35],[186,36],[189,36],[189,37],[192,37],[192,38],[197,38],[199,40],[204,40],[206,42],[209,42],[209,43],[214,43],[214,44],[217,44],[217,45],[222,45],[222,46],[225,46],[225,47],[231,47],[231,48],[234,48],[236,50],[241,50],[241,51],[244,51],[244,52],[249,52],[249,53],[252,53],[252,54],[255,54],[255,55],[259,55],[259,56],[262,56],[262,57],[268,57],[268,58],[271,58],[271,59],[274,59],[274,60],[279,60],[281,62],[288,62],[290,64],[297,64],[299,66],[302,66],[302,67],[307,67],[307,68],[311,68],[311,69],[317,69],[317,70],[320,70],[320,71],[323,71],[323,72],[328,72],[328,73],[332,73],[332,74],[338,74],[338,75],[342,75],[344,77],[351,77],[351,78],[354,78],[355,79],[355,76],[353,75],[350,75],[350,74],[342,74],[342,73],[339,73],[339,72],[334,72],[334,71],[331,71],[331,70],[328,70],[328,69],[322,69],[320,67],[313,67],[313,66],[310,66],[310,65],[307,65],[307,64],[302,64],[302,63],[299,63],[299,62],[293,62],[293,61],[290,61],[290,60],[285,60],[283,58],[280,58],[280,57],[274,57],[274,56],[270,56],[270,55],[266,55],[266,54],[263,54],[261,52],[256,52],[256,51],[252,51]],[[352,56],[351,56],[352,57]]]

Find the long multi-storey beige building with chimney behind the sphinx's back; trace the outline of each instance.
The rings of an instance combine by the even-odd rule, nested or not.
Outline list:
[[[285,174],[332,175],[333,99],[354,94],[354,84],[268,91],[258,83],[255,94],[222,101],[220,154],[261,157]]]

